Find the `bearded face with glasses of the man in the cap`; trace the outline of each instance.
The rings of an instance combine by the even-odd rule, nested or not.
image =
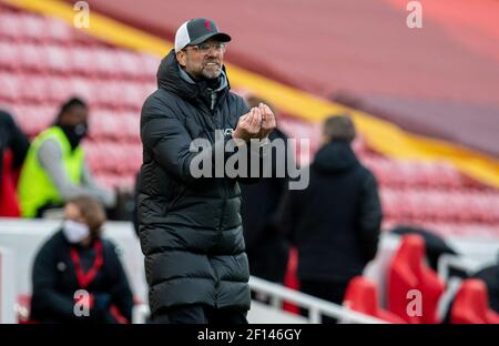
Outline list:
[[[216,79],[222,73],[225,43],[210,39],[196,45],[187,45],[176,53],[179,63],[195,79]]]

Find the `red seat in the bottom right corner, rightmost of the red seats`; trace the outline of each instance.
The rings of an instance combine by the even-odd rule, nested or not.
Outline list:
[[[459,288],[450,312],[454,324],[499,324],[499,314],[489,307],[487,286],[481,279],[466,279]]]

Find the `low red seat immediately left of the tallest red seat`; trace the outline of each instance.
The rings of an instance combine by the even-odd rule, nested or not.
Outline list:
[[[348,283],[343,304],[353,311],[389,323],[406,323],[397,315],[379,307],[376,284],[363,276],[356,276]]]

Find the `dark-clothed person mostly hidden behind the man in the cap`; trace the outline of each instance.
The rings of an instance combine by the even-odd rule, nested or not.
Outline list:
[[[268,104],[257,96],[246,100],[249,108],[259,103]],[[271,105],[269,105],[271,106]],[[271,106],[275,115],[277,112]],[[287,146],[287,136],[278,129],[268,135],[271,141],[281,139],[286,144],[286,161],[293,160]],[[287,266],[288,242],[277,231],[277,206],[286,190],[288,180],[287,170],[285,176],[276,174],[276,150],[272,151],[272,177],[263,177],[255,184],[241,184],[242,204],[241,216],[243,218],[243,232],[246,244],[246,254],[249,261],[249,273],[257,277],[276,283],[284,282]]]

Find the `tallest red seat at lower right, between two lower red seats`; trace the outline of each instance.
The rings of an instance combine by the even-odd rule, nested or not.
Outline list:
[[[408,323],[437,323],[437,304],[445,284],[424,265],[425,241],[419,235],[401,237],[401,244],[388,268],[388,308]],[[421,316],[407,312],[408,293],[421,295]]]

